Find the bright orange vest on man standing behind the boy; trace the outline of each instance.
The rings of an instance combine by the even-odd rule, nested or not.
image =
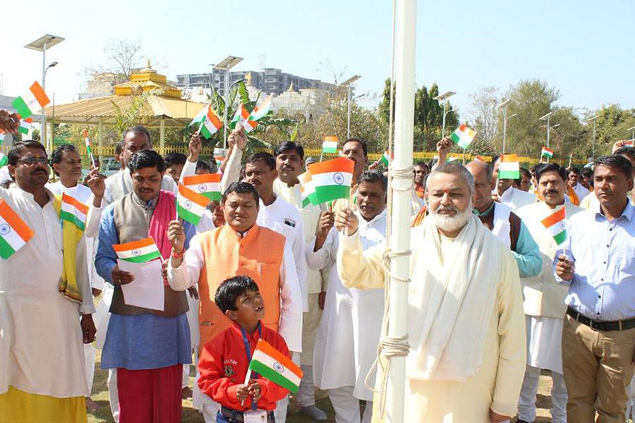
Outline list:
[[[229,317],[214,302],[214,295],[222,281],[232,276],[249,276],[258,284],[265,302],[262,323],[278,331],[284,236],[254,225],[241,238],[229,225],[223,225],[200,234],[199,240],[205,259],[198,279],[200,348],[231,326]]]

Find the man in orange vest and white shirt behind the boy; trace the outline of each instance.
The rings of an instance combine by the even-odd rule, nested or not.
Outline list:
[[[280,333],[290,351],[301,353],[302,295],[294,255],[283,235],[256,224],[259,201],[250,183],[229,185],[221,203],[226,224],[195,235],[187,252],[181,223],[172,221],[168,228],[171,288],[186,290],[198,281],[201,348],[231,326],[214,303],[216,288],[226,278],[249,276],[258,283],[265,301],[262,323]],[[205,422],[216,421],[217,404],[210,398],[205,398],[200,411]],[[276,416],[276,420],[284,422],[284,416]]]

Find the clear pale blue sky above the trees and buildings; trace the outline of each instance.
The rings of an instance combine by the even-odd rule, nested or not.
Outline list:
[[[228,54],[245,58],[236,70],[258,70],[263,55],[266,67],[332,82],[329,61],[344,78],[362,75],[358,93],[380,93],[390,74],[390,0],[35,0],[2,11],[4,94],[41,79],[42,54],[23,46],[50,33],[66,38],[47,54],[59,61],[47,73],[58,104],[76,99],[111,38],[140,39],[172,80]],[[419,0],[417,17],[417,83],[457,92],[461,117],[479,87],[504,92],[523,78],[547,80],[563,106],[635,107],[633,0]]]

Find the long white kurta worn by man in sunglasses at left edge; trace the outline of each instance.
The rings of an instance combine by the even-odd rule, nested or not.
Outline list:
[[[79,316],[95,312],[87,269],[78,263],[81,304],[59,293],[63,244],[52,192],[44,207],[20,188],[0,188],[0,197],[35,234],[0,259],[0,393],[11,385],[58,398],[85,396]],[[80,240],[80,254],[84,245]]]

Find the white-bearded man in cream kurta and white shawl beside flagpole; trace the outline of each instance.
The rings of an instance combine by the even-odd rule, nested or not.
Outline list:
[[[407,421],[500,423],[516,415],[526,360],[518,268],[471,214],[473,189],[464,166],[436,168],[428,177],[430,216],[411,233]],[[384,286],[385,247],[363,251],[350,210],[337,210],[335,224],[348,234],[337,257],[344,285]],[[382,419],[382,401],[374,403],[373,419]]]

